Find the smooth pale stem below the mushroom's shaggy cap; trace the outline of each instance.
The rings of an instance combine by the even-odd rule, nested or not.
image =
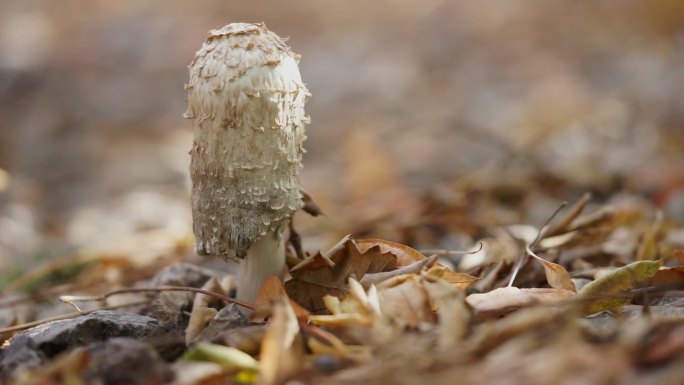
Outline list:
[[[240,280],[237,299],[254,303],[266,278],[282,277],[285,270],[285,229],[287,223],[272,233],[252,243],[247,257],[240,263]]]

